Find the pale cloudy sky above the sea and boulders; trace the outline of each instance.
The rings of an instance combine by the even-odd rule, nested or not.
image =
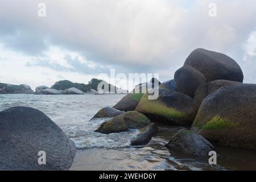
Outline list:
[[[255,12],[255,0],[1,1],[0,82],[87,83],[110,68],[166,81],[193,49],[206,48],[235,59],[245,82],[256,83]]]

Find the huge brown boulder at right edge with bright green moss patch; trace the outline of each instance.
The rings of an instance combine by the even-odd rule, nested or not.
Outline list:
[[[193,131],[211,142],[256,149],[256,84],[224,86],[202,102]]]

